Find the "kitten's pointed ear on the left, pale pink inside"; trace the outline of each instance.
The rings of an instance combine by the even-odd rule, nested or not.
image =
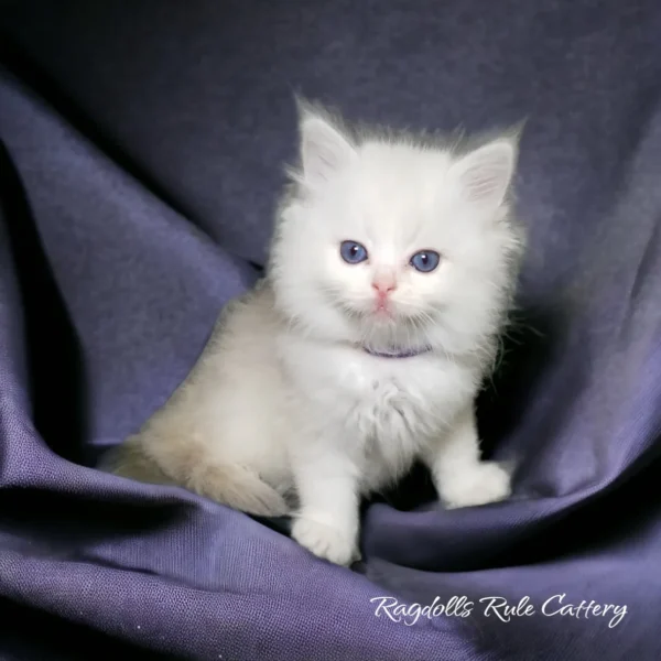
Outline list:
[[[303,177],[323,184],[351,163],[356,149],[322,113],[302,102],[299,110]]]

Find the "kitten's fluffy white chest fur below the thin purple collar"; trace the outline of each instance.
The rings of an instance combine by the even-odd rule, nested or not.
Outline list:
[[[405,473],[475,391],[472,373],[431,355],[303,350],[292,367],[308,424],[351,457],[366,491]]]

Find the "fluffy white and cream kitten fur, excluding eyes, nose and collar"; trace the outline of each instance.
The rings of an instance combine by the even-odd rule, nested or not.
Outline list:
[[[517,140],[459,152],[350,134],[322,109],[300,109],[301,165],[266,279],[227,307],[188,379],[120,447],[115,472],[262,516],[289,512],[294,492],[293,538],[348,564],[360,497],[416,457],[447,507],[510,492],[508,474],[479,459],[474,400],[523,246],[509,196]],[[368,260],[343,261],[349,239]],[[442,256],[431,273],[409,263],[422,249]],[[390,315],[375,308],[383,274],[397,286]],[[422,353],[366,351],[393,347]]]

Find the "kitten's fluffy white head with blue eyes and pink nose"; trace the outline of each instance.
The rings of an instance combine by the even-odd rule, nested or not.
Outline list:
[[[509,210],[517,144],[470,151],[351,137],[301,108],[301,166],[270,277],[306,333],[373,349],[489,345],[522,246]]]

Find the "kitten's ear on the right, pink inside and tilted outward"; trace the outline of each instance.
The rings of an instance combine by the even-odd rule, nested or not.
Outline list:
[[[505,199],[516,163],[516,141],[501,138],[466,154],[452,170],[467,202],[496,208]]]

